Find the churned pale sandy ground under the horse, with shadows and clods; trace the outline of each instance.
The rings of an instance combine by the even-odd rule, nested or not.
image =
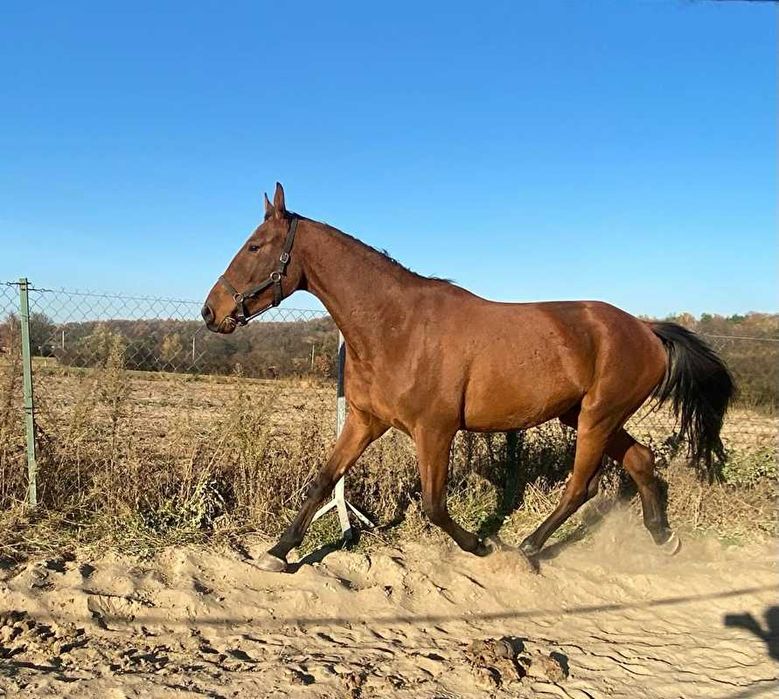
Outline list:
[[[435,543],[316,558],[292,574],[194,548],[143,563],[6,568],[0,694],[651,699],[779,689],[774,546],[688,539],[667,558],[618,512],[590,539],[553,547],[539,574],[513,551],[478,559]]]

